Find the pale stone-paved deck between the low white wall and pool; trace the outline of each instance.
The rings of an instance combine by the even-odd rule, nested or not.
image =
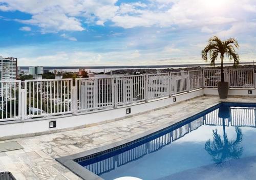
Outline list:
[[[256,102],[256,98],[229,98],[225,101]],[[108,124],[9,140],[17,141],[24,149],[1,152],[0,172],[10,171],[19,180],[80,179],[55,158],[111,144],[164,123],[176,123],[219,102],[218,97],[204,96]]]

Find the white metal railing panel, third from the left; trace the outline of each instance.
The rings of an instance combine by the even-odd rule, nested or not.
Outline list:
[[[77,78],[77,111],[93,110],[114,105],[114,79]]]

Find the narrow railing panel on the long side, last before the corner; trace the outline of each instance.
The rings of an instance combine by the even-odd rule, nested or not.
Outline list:
[[[188,71],[189,90],[199,89],[203,87],[203,71]]]

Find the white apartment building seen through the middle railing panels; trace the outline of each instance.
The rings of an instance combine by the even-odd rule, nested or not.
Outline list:
[[[101,77],[106,77],[106,79],[101,79]],[[111,85],[111,81],[114,79],[111,79],[112,77],[116,77],[115,84],[117,86],[116,90],[118,91],[116,97],[117,103],[130,103],[143,96],[141,94],[143,92],[142,82],[139,79],[125,78],[124,75],[95,75],[96,79],[84,79],[80,81],[80,107],[82,109],[90,109],[110,106],[113,103],[113,86]]]

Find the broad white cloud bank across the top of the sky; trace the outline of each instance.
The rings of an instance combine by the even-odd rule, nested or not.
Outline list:
[[[83,23],[104,26],[111,21],[122,28],[201,27],[233,25],[245,21],[246,12],[256,11],[254,0],[156,0],[121,3],[117,0],[0,0],[0,10],[21,11],[32,15],[17,21],[35,25],[42,33],[83,31]],[[234,3],[235,2],[235,3]],[[255,15],[254,15],[255,17]],[[209,32],[209,31],[208,31]]]

